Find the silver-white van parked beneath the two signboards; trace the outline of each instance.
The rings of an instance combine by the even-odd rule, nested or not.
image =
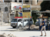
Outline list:
[[[31,20],[22,19],[22,18],[12,19],[11,26],[13,28],[27,26],[27,25],[29,25],[29,21],[30,21],[31,24],[33,24],[33,20],[32,19]]]

